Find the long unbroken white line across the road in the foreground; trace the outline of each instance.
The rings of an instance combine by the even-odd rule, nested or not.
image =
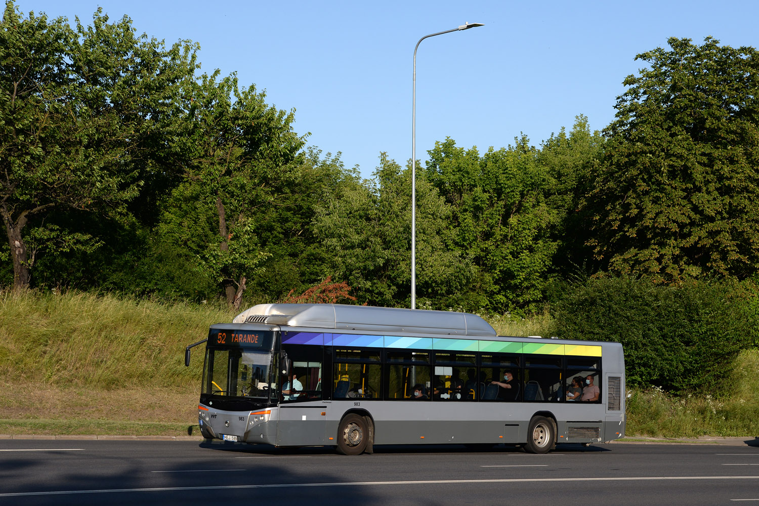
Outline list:
[[[630,476],[609,478],[583,478],[582,482],[635,482],[635,481],[681,481],[701,479],[757,479],[759,476]],[[71,495],[71,494],[114,494],[121,492],[179,492],[187,490],[231,490],[231,489],[288,489],[293,487],[339,487],[339,486],[382,486],[382,485],[454,485],[474,483],[534,483],[534,482],[576,482],[572,478],[525,478],[525,479],[429,479],[398,482],[335,482],[335,483],[277,483],[260,485],[211,485],[195,487],[156,487],[150,489],[102,489],[102,490],[59,490],[52,492],[11,492],[0,493],[0,497],[26,497],[30,495]]]

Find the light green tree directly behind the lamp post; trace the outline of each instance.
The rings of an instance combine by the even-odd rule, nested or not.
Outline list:
[[[357,175],[322,206],[314,225],[332,255],[325,275],[351,287],[358,303],[411,303],[411,170],[386,153],[370,181]],[[417,174],[417,294],[419,307],[458,306],[471,291],[474,267],[449,247],[448,206]]]

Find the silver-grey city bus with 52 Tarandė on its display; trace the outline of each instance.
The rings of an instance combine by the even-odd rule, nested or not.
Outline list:
[[[253,306],[211,325],[186,365],[204,342],[205,438],[343,454],[443,443],[545,453],[625,434],[615,342],[500,337],[468,313],[339,304]]]

